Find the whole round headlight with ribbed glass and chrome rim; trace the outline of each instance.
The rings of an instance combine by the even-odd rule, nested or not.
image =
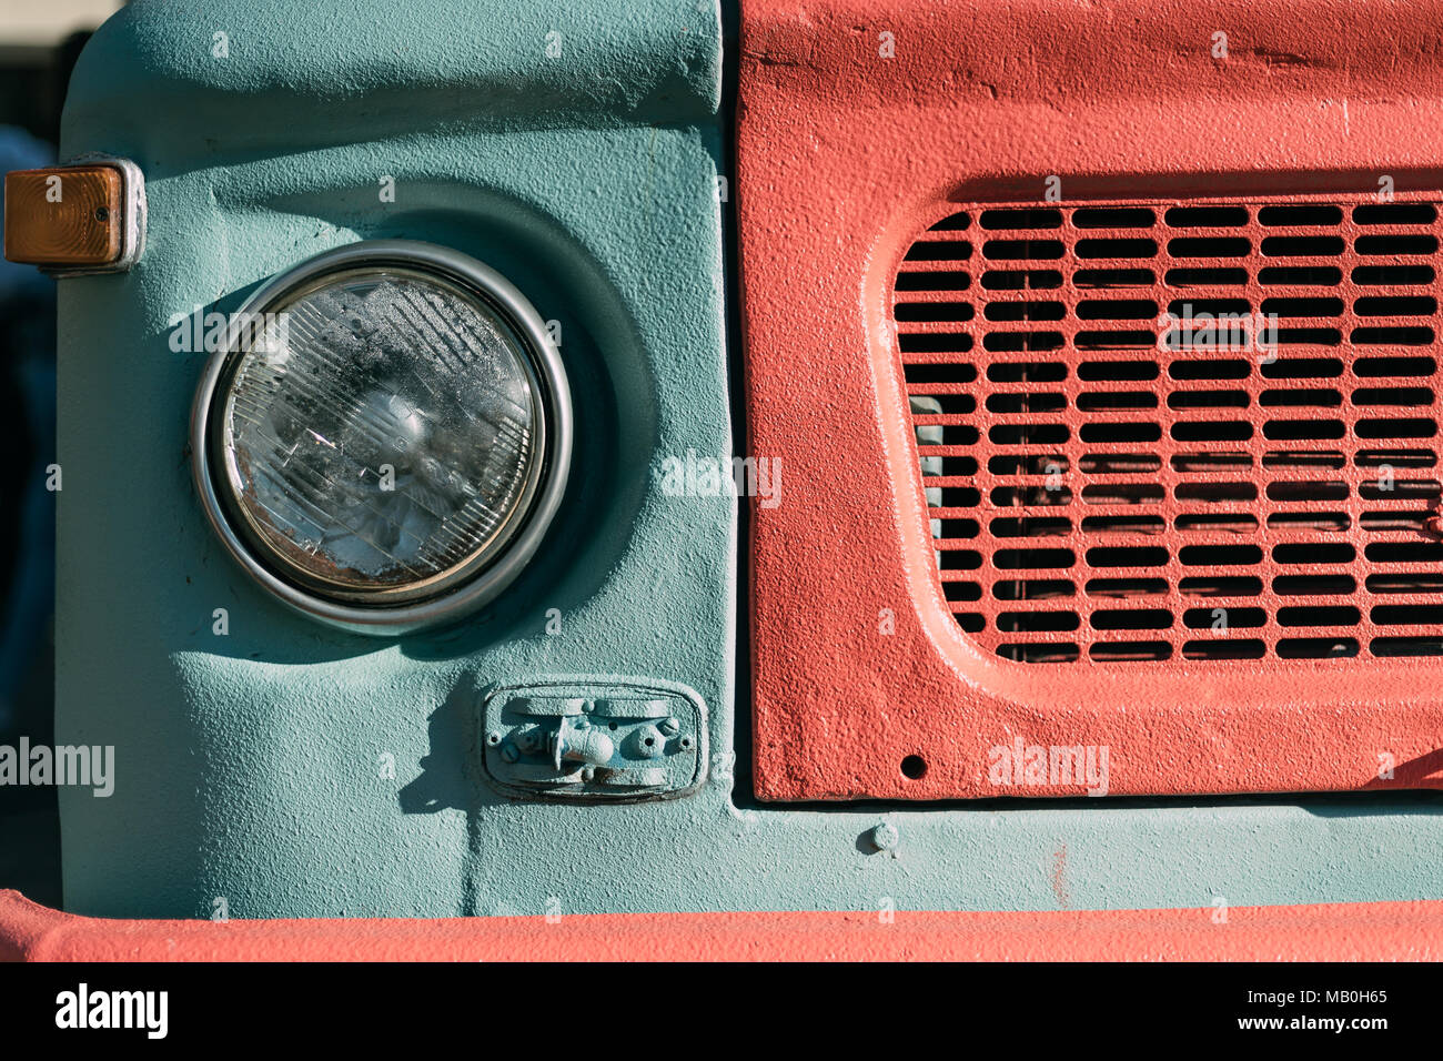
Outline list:
[[[260,289],[206,367],[196,485],[221,540],[316,618],[401,632],[499,593],[570,460],[560,357],[486,266],[343,247]]]

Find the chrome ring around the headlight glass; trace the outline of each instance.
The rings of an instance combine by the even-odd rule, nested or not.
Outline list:
[[[231,557],[290,608],[333,626],[368,634],[405,634],[443,625],[494,601],[521,573],[541,544],[566,491],[571,459],[571,398],[560,352],[531,302],[504,276],[475,258],[413,240],[371,240],[309,258],[257,289],[235,319],[258,319],[299,292],[342,273],[400,268],[457,286],[501,318],[519,346],[519,361],[537,404],[534,459],[522,495],[502,531],[465,570],[429,586],[390,595],[326,592],[307,585],[254,534],[225,471],[221,410],[245,355],[235,332],[211,355],[190,413],[190,463],[206,520]]]

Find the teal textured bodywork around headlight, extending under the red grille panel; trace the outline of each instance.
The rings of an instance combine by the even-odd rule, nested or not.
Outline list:
[[[150,202],[136,268],[61,284],[56,741],[115,746],[114,795],[61,791],[68,909],[1439,896],[1443,818],[1427,797],[739,807],[736,505],[667,497],[659,473],[667,456],[732,449],[717,13],[659,0],[205,7],[133,3],[87,49],[66,111],[63,153],[136,160]],[[218,32],[229,58],[212,55]],[[380,201],[382,176],[395,202]],[[235,309],[359,238],[439,243],[505,273],[561,323],[576,406],[571,485],[531,567],[463,625],[391,641],[293,615],[224,556],[185,452],[205,354],[167,341],[173,316]],[[701,697],[698,793],[563,805],[485,781],[488,687],[618,676]],[[882,820],[895,852],[864,839]]]

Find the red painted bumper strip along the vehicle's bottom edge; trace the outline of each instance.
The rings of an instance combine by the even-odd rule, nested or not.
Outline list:
[[[820,961],[1443,957],[1443,902],[1046,914],[605,914],[446,921],[105,921],[0,891],[0,960]]]

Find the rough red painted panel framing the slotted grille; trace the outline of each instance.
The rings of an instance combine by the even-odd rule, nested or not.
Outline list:
[[[990,784],[991,749],[1014,741],[1108,748],[1113,794],[1443,784],[1436,661],[1061,673],[980,652],[942,601],[886,326],[902,256],[951,204],[1042,204],[1052,176],[1065,202],[1358,196],[1380,173],[1436,189],[1443,7],[1361,20],[1343,0],[755,0],[745,13],[749,449],[782,460],[789,491],[752,510],[758,794],[1084,790]]]

